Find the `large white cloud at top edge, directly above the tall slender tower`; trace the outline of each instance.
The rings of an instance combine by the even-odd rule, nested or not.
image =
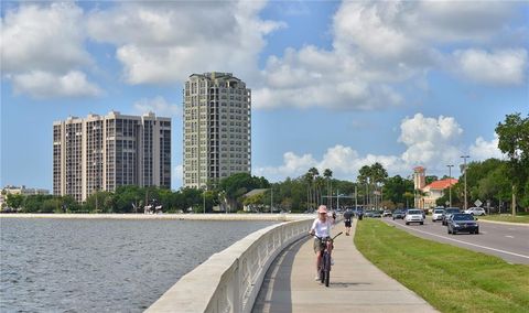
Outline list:
[[[259,18],[263,4],[122,2],[90,13],[88,32],[118,46],[117,58],[130,84],[183,82],[193,73],[213,71],[233,72],[248,80],[258,73],[263,36],[283,26]]]

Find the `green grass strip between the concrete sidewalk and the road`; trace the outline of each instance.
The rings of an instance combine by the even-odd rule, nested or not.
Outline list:
[[[358,223],[355,245],[441,312],[529,312],[529,266],[422,239],[376,219]]]

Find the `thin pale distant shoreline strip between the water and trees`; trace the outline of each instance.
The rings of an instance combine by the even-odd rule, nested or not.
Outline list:
[[[312,214],[35,214],[8,213],[0,218],[64,218],[64,219],[177,219],[177,220],[279,220],[314,218]]]

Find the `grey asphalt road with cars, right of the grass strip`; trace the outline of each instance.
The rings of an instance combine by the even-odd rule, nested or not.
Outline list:
[[[402,219],[382,218],[389,225],[404,229],[418,237],[450,244],[487,255],[500,257],[509,263],[529,265],[529,227],[479,222],[479,235],[449,235],[441,222],[427,216],[424,225],[404,224]]]

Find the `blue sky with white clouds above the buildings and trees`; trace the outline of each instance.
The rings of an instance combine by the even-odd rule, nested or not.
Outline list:
[[[252,174],[380,162],[447,175],[505,158],[495,128],[529,114],[527,1],[2,1],[0,185],[53,190],[53,121],[172,118],[182,89],[228,72],[252,93]]]

